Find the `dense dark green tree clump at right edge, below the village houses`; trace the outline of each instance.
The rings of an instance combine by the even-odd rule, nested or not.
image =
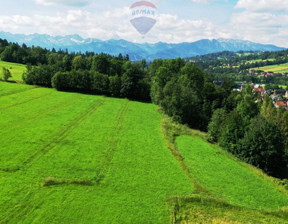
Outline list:
[[[288,111],[276,110],[269,97],[261,102],[251,85],[230,97],[232,107],[214,111],[208,140],[270,175],[287,178]]]

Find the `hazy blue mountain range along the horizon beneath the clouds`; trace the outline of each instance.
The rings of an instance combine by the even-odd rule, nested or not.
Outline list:
[[[25,43],[27,46],[40,46],[47,49],[55,48],[68,49],[69,52],[86,52],[108,53],[111,55],[128,54],[132,61],[146,59],[154,60],[156,58],[187,58],[197,55],[221,51],[279,51],[285,48],[275,45],[264,45],[250,41],[232,40],[232,39],[202,39],[191,43],[169,44],[159,42],[156,44],[149,43],[132,43],[126,40],[107,40],[102,41],[93,38],[84,39],[79,35],[67,36],[49,36],[46,34],[11,34],[0,32],[0,38],[7,39],[9,42]]]

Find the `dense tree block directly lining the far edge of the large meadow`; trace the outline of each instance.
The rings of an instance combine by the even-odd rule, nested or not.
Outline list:
[[[61,91],[86,92],[150,101],[145,61],[131,63],[121,55],[48,55],[48,64],[28,66],[27,84],[53,87]]]

